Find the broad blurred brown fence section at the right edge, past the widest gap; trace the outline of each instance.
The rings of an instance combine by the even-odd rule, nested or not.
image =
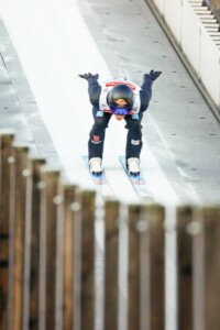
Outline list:
[[[219,329],[220,208],[180,208],[177,219],[178,329]]]

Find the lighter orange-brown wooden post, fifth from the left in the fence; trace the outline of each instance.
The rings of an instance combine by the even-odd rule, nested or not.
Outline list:
[[[63,235],[63,330],[73,330],[76,316],[76,223],[79,220],[80,200],[76,186],[64,187]]]

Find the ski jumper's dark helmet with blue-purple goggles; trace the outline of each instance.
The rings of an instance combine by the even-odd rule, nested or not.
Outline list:
[[[114,114],[128,114],[134,103],[134,92],[128,85],[114,86],[107,96],[107,102]]]

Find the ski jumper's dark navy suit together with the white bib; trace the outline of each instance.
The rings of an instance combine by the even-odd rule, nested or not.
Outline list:
[[[129,85],[134,92],[134,103],[131,111],[124,116],[125,129],[128,129],[125,158],[140,158],[142,150],[142,125],[141,121],[143,112],[147,109],[152,97],[153,80],[146,77],[141,86],[125,79],[112,79],[99,85],[98,78],[92,76],[88,79],[88,92],[92,107],[94,125],[89,133],[88,155],[102,158],[106,129],[112,117],[111,110],[107,103],[107,95],[109,90],[117,84]]]

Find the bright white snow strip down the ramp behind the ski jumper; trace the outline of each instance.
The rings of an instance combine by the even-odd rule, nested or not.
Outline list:
[[[91,107],[87,82],[78,74],[99,72],[100,80],[111,78],[112,74],[80,16],[77,1],[1,0],[0,3],[4,24],[70,182],[94,188],[81,160],[87,154]],[[118,160],[124,154],[123,125],[111,120],[103,165],[113,195],[124,202],[138,202]],[[153,199],[163,205],[178,204],[146,141],[142,160]]]

